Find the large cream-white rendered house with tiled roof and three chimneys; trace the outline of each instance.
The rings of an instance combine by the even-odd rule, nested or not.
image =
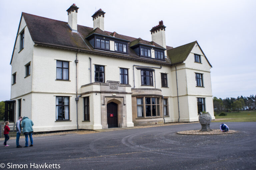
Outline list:
[[[77,25],[75,4],[67,14],[22,13],[6,120],[28,116],[39,132],[214,119],[212,66],[197,41],[167,46],[163,21],[146,41],[104,30],[101,9],[93,28]]]

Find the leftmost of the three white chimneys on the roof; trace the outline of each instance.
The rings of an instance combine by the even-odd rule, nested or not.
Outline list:
[[[77,10],[78,7],[76,4],[71,5],[67,11],[68,11],[68,25],[71,28],[72,31],[77,32]]]

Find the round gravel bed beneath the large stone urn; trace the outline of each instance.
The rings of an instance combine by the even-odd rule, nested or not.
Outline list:
[[[222,132],[220,129],[212,129],[209,132],[201,132],[200,130],[187,130],[187,131],[180,131],[177,134],[180,135],[226,135],[231,133],[236,133],[235,130],[229,130],[228,132]]]

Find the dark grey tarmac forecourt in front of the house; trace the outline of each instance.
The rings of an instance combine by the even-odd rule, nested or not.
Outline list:
[[[218,129],[220,123],[211,123]],[[256,123],[230,122],[237,133],[228,135],[180,135],[200,129],[200,123],[66,134],[34,138],[34,146],[0,147],[0,164],[36,165],[60,169],[256,169]],[[21,139],[24,146],[25,141]],[[8,164],[9,163],[9,164]],[[32,164],[32,167],[30,165]],[[16,167],[17,168],[17,167]],[[41,169],[43,169],[41,167]],[[52,168],[53,169],[53,168]]]

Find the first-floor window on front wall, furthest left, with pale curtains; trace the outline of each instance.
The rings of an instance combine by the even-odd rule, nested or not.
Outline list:
[[[69,62],[58,61],[56,66],[56,79],[58,80],[69,80]]]

